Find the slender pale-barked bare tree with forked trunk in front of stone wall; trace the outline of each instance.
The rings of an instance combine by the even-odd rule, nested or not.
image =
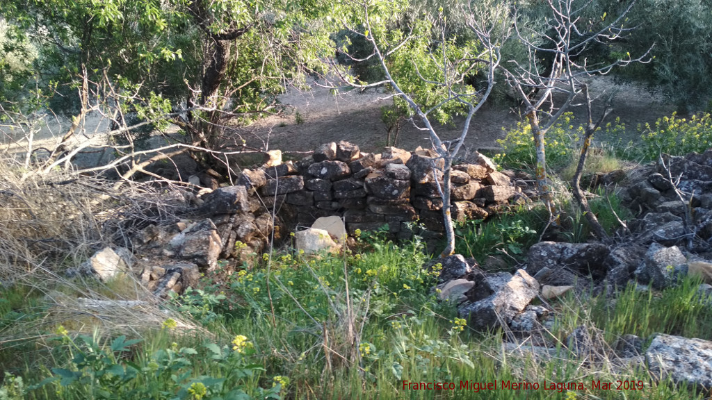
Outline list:
[[[384,44],[384,36],[382,30],[377,33],[372,23],[372,6],[370,1],[360,1],[355,3],[360,8],[362,27],[364,31],[357,27],[345,23],[346,27],[355,35],[360,35],[369,41],[373,46],[373,53],[370,57],[377,58],[377,64],[382,68],[384,80],[370,85],[387,84],[392,88],[393,95],[404,100],[412,115],[409,120],[413,123],[417,130],[426,132],[431,142],[431,148],[437,154],[433,162],[434,181],[438,185],[439,194],[443,199],[442,213],[444,217],[446,247],[441,253],[441,256],[449,256],[455,251],[455,233],[451,217],[450,206],[450,172],[452,162],[459,154],[463,147],[464,140],[468,134],[470,122],[473,115],[480,109],[483,103],[492,93],[492,88],[495,84],[495,71],[501,62],[500,48],[501,38],[508,36],[508,26],[505,23],[507,11],[501,6],[498,6],[493,1],[479,1],[468,4],[464,11],[467,12],[466,26],[473,33],[475,41],[470,43],[471,46],[456,47],[455,41],[448,36],[447,21],[442,13],[442,9],[438,16],[433,17],[431,21],[434,26],[434,31],[430,31],[431,40],[425,44],[426,56],[419,59],[414,55],[415,52],[400,53],[409,46],[409,42],[422,39],[417,38],[418,34],[414,33],[413,28],[404,34],[402,40],[394,43]],[[477,4],[477,5],[475,5]],[[381,22],[382,23],[382,22]],[[412,43],[411,43],[412,44]],[[422,43],[421,43],[422,44]],[[402,87],[405,78],[397,75],[391,68],[392,58],[404,57],[409,58],[409,62],[417,71],[420,83],[437,88],[443,96],[437,100],[434,105],[425,105],[419,101],[414,93],[407,93]],[[434,66],[436,73],[428,76],[423,72],[424,64]],[[419,65],[420,64],[420,65]],[[466,79],[471,78],[475,73],[481,73],[484,77],[479,88],[473,88],[466,84]],[[344,77],[349,85],[354,85],[353,79]],[[362,85],[362,86],[370,86]],[[454,140],[444,140],[433,124],[434,114],[442,112],[444,107],[457,105],[464,110],[465,120],[462,125],[461,132]],[[443,160],[444,167],[441,168],[442,183],[436,171],[436,161]]]

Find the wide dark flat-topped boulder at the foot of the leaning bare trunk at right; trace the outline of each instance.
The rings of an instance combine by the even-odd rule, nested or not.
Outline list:
[[[527,272],[535,275],[548,267],[557,273],[570,268],[584,275],[602,278],[606,274],[604,260],[609,249],[602,243],[540,242],[529,248]]]

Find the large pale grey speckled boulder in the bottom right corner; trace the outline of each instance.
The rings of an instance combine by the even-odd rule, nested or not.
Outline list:
[[[646,350],[645,359],[653,377],[712,389],[712,342],[659,334]]]

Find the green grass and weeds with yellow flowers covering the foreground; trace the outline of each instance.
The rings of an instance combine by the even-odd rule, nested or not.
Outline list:
[[[43,340],[0,354],[16,358],[10,372],[23,377],[26,399],[619,399],[621,391],[595,389],[592,381],[623,378],[645,385],[625,391],[627,399],[701,399],[651,381],[642,369],[617,371],[614,358],[582,364],[561,346],[548,359],[503,351],[504,332],[473,332],[452,305],[436,301],[430,290],[437,272],[422,270],[426,256],[417,241],[364,238],[362,251],[344,256],[264,258],[224,281],[208,275],[200,292],[174,299],[183,316],[203,321],[209,337],[179,329],[171,318],[142,331],[138,342],[55,325]],[[612,307],[604,298],[567,296],[552,304],[550,337],[563,343],[573,327],[586,325],[604,332],[600,354],[614,357],[605,343],[624,333],[710,332],[712,312],[699,307],[695,288],[686,280],[659,300],[628,288]],[[20,286],[2,294],[14,305],[38,298]],[[498,389],[461,389],[461,381],[497,382]],[[501,389],[503,381],[539,389]],[[545,390],[544,381],[582,382],[584,389]],[[409,382],[452,382],[456,389],[408,390]]]

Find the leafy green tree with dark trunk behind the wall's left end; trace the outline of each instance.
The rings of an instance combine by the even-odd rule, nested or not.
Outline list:
[[[179,126],[192,149],[224,148],[231,124],[277,112],[286,85],[323,73],[329,12],[323,0],[9,0],[2,9],[39,48],[33,72],[46,105],[73,116],[63,142],[90,113],[127,135],[132,114]]]

